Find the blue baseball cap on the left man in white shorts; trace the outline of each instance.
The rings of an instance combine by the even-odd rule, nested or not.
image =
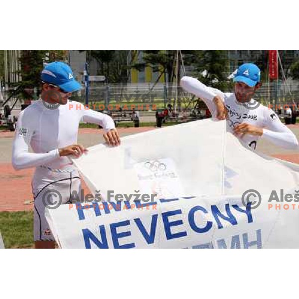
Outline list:
[[[81,84],[74,79],[72,69],[60,61],[48,63],[41,71],[40,78],[43,82],[59,86],[66,92],[81,89]]]

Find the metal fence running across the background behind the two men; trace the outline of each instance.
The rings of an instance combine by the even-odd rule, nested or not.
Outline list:
[[[289,89],[292,95],[289,93]],[[231,90],[226,90],[231,92]],[[177,107],[180,109],[193,108],[191,99],[197,99],[193,95],[185,92],[180,86],[175,84],[164,83],[128,83],[128,84],[97,84],[89,87],[89,103],[103,104],[107,107],[109,104],[118,103],[125,104],[156,104],[158,108],[163,108],[168,103],[174,104],[176,100]],[[4,99],[5,94],[3,95]],[[34,96],[37,99],[38,95]],[[292,81],[289,87],[286,84],[279,82],[264,83],[257,92],[255,99],[267,104],[288,104],[293,100],[299,102],[299,82]],[[11,99],[8,105],[14,103],[15,99]],[[72,100],[85,103],[85,88],[74,93]],[[14,109],[20,109],[21,101],[18,101]]]

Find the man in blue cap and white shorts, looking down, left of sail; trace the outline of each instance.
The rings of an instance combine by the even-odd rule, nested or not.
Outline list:
[[[41,98],[19,114],[12,165],[15,169],[35,167],[32,179],[35,247],[54,248],[45,206],[57,200],[71,203],[74,194],[76,199],[81,194],[80,175],[68,158],[87,153],[87,149],[77,144],[80,121],[101,125],[110,146],[118,146],[120,137],[110,116],[69,101],[72,92],[81,85],[67,64],[47,64],[41,72],[41,81]],[[28,151],[29,146],[33,152]]]

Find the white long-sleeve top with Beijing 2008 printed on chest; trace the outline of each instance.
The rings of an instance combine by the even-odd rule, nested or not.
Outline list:
[[[299,149],[295,134],[280,121],[277,114],[271,108],[260,104],[256,109],[248,109],[242,103],[238,102],[234,93],[223,93],[218,89],[207,87],[192,77],[183,77],[180,81],[180,85],[187,92],[201,98],[214,118],[216,117],[217,111],[213,99],[216,95],[219,95],[228,110],[228,125],[230,128],[234,128],[236,125],[245,122],[263,128],[263,135],[261,137],[268,139],[275,145],[285,149]],[[250,101],[250,107],[256,107],[256,103],[257,101],[252,99]],[[261,137],[246,134],[242,137],[242,140],[251,148],[255,149],[257,141]]]

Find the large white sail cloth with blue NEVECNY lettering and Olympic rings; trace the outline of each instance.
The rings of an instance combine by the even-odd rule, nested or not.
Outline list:
[[[46,209],[62,248],[299,247],[296,199],[289,209],[269,201],[295,196],[299,165],[249,149],[226,122],[131,135],[73,162],[102,201]],[[242,202],[247,190],[261,194],[259,206]]]

